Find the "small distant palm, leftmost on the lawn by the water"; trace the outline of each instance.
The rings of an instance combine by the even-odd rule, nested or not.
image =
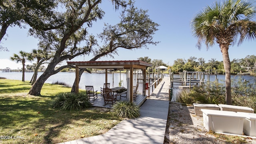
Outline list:
[[[25,62],[26,60],[32,60],[30,53],[20,51],[18,54],[13,54],[13,57],[10,57],[11,60],[16,60],[16,62],[22,62],[22,82],[25,82]]]

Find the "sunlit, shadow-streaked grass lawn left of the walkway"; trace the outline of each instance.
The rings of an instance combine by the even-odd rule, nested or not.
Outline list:
[[[106,108],[52,108],[55,95],[71,88],[44,84],[42,96],[31,96],[30,87],[29,82],[0,79],[1,144],[56,144],[103,134],[122,120]]]

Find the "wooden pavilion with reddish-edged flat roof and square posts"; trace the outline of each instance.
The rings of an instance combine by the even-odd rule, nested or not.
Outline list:
[[[151,67],[152,64],[144,62],[142,60],[123,60],[123,61],[87,61],[87,62],[67,62],[68,65],[76,66],[76,88],[75,92],[78,93],[79,90],[79,68],[98,68],[105,69],[106,78],[105,83],[108,83],[108,69],[114,70],[130,70],[130,74],[128,75],[127,84],[127,97],[130,98],[130,102],[133,101],[133,71],[134,69],[141,69],[143,74],[143,95],[146,95],[146,68]]]

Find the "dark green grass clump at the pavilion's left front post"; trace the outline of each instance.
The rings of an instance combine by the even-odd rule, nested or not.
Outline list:
[[[90,97],[85,93],[64,92],[57,95],[53,107],[62,110],[82,110],[83,108],[92,107],[92,104],[90,103]]]

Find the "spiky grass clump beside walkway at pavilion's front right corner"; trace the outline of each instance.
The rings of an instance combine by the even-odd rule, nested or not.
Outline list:
[[[121,118],[138,118],[140,116],[140,108],[133,102],[128,101],[116,102],[111,112]]]

